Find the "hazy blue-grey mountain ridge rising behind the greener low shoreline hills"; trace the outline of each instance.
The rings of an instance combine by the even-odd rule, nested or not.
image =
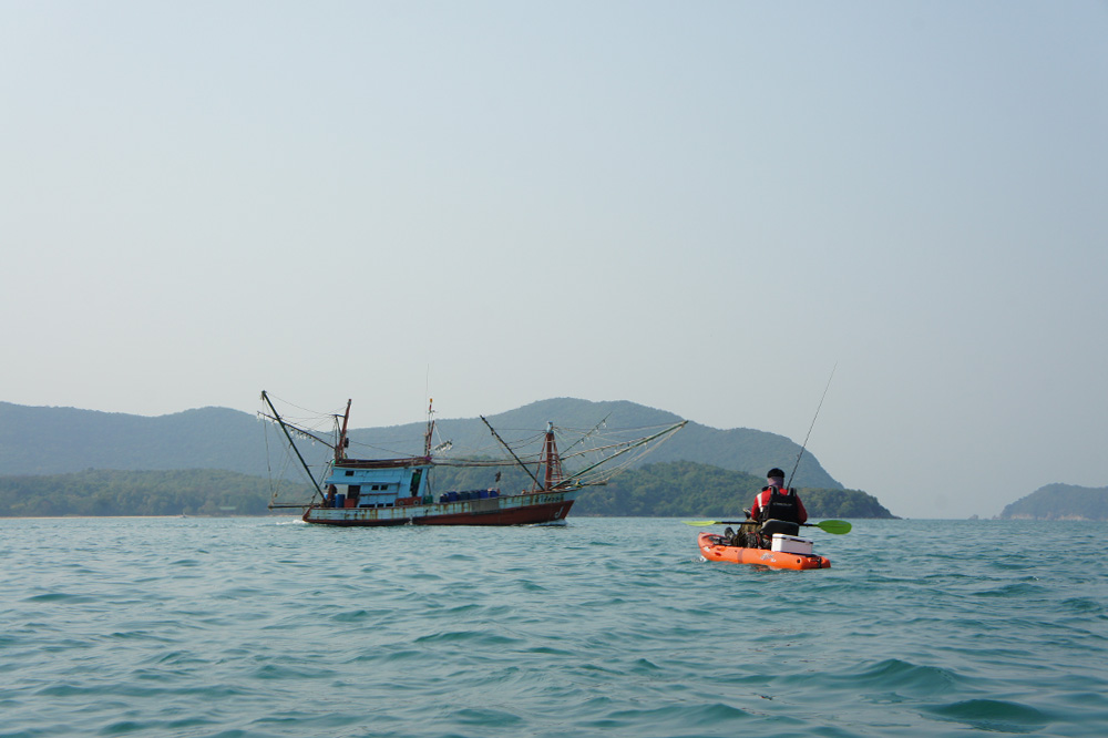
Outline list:
[[[352,424],[357,424],[357,410],[355,406]],[[670,412],[634,402],[572,398],[542,400],[489,416],[489,421],[507,439],[534,434],[547,421],[588,430],[602,421],[606,428],[647,428],[677,420]],[[489,429],[479,418],[444,419],[437,428],[440,439],[453,442],[454,455],[496,450]],[[350,452],[365,458],[421,453],[423,431],[421,422],[355,429],[350,431]],[[226,408],[147,418],[0,402],[0,475],[59,474],[88,469],[223,469],[265,476],[269,473],[267,438],[270,445],[284,443],[269,423]],[[315,449],[317,457],[326,452],[319,445]],[[798,453],[800,447],[783,435],[747,428],[718,430],[690,422],[644,463],[694,461],[761,475],[770,467],[791,471]],[[803,455],[793,485],[842,488],[811,452]]]

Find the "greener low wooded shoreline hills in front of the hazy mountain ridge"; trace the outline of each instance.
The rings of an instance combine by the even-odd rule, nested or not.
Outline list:
[[[520,469],[500,481],[484,468],[440,467],[434,490],[527,489]],[[286,485],[288,482],[285,483]],[[296,483],[299,484],[299,483]],[[752,474],[689,461],[648,464],[586,489],[574,515],[733,516],[749,508],[762,480]],[[311,496],[302,485],[300,500]],[[893,517],[876,499],[858,490],[801,489],[814,517]],[[110,471],[0,476],[0,516],[60,515],[261,515],[271,498],[267,479],[220,470]],[[288,512],[288,511],[286,511]]]

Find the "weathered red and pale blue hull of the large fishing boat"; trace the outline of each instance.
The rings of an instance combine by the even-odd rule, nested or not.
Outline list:
[[[304,513],[318,525],[534,525],[565,520],[577,490],[502,495],[427,505],[389,508],[320,508]]]

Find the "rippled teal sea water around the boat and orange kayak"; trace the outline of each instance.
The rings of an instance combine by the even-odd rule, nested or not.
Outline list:
[[[853,523],[2,520],[0,736],[1108,735],[1104,524]]]

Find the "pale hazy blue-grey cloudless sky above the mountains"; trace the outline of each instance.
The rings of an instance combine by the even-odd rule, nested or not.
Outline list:
[[[1106,39],[1077,0],[0,0],[0,401],[630,400],[811,428],[905,517],[1105,486]]]

